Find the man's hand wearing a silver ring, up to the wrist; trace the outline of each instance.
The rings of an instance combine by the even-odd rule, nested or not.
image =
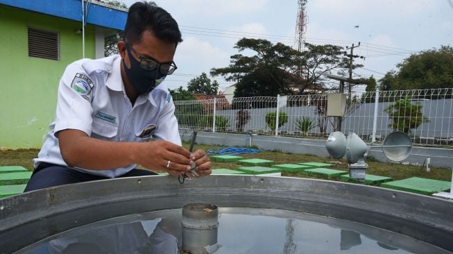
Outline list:
[[[141,144],[138,163],[146,169],[167,171],[171,176],[180,176],[190,170],[190,162],[194,159],[182,146],[163,140]]]

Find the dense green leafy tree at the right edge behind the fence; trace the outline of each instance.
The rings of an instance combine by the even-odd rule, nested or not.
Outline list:
[[[398,72],[387,72],[379,80],[391,90],[411,90],[453,87],[453,48],[420,51],[400,62]]]

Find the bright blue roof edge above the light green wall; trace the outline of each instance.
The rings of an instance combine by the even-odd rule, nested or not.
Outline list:
[[[82,22],[81,0],[0,0],[0,4]],[[87,24],[121,31],[124,29],[127,10],[96,1],[90,1],[88,6]]]

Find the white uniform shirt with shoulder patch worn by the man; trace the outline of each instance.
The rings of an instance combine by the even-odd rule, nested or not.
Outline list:
[[[82,59],[68,65],[58,87],[55,121],[49,126],[38,158],[33,160],[35,168],[40,162],[67,166],[55,137],[55,133],[65,129],[82,130],[89,137],[114,142],[146,142],[154,137],[181,145],[175,105],[166,85],[160,83],[132,105],[124,91],[120,65],[120,56]],[[136,166],[74,169],[114,178]]]

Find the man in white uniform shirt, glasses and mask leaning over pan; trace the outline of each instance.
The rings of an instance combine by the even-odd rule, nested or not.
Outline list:
[[[182,148],[175,106],[166,85],[177,68],[178,24],[155,3],[130,6],[119,56],[68,65],[49,126],[25,192],[45,187],[128,176],[146,169],[188,176],[211,173],[205,151]],[[151,138],[156,139],[148,142]]]

